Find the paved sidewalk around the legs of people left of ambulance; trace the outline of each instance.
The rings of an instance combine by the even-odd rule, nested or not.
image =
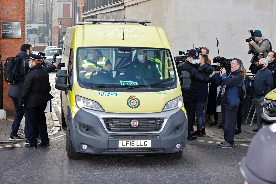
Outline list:
[[[58,118],[55,114],[55,111],[52,107],[52,112],[45,113],[46,115],[46,124],[47,124],[47,132],[48,135],[53,135],[60,131],[60,122],[58,121]],[[25,119],[23,117],[19,130],[18,135],[25,138],[24,135],[24,123]],[[12,127],[13,120],[0,120],[0,143],[1,142],[16,142],[16,141],[9,141],[9,136],[11,133],[11,127]]]

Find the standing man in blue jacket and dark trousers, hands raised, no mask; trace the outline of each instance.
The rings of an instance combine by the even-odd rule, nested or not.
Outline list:
[[[221,124],[225,140],[218,145],[221,148],[231,148],[235,145],[237,108],[240,101],[239,91],[243,84],[243,77],[240,74],[241,63],[241,60],[235,58],[231,62],[231,71],[226,71],[222,67],[221,72],[215,74],[216,84],[222,84],[216,100],[216,105],[221,105]]]

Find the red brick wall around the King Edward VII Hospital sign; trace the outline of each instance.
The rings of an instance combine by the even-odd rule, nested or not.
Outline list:
[[[1,0],[0,1],[0,19],[1,22],[21,22],[22,23],[22,38],[1,38],[0,40],[0,55],[1,62],[5,64],[7,57],[13,57],[20,52],[20,47],[25,41],[25,0]],[[1,28],[1,24],[0,24]],[[14,114],[14,104],[7,95],[9,84],[3,78],[3,109],[7,114]],[[0,87],[2,92],[2,89]]]

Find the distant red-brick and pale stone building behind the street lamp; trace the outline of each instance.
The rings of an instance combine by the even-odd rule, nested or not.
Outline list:
[[[60,32],[57,25],[59,22],[62,24]],[[55,46],[58,46],[58,40],[63,40],[66,29],[74,25],[74,0],[53,0],[52,24],[52,38],[57,40]]]

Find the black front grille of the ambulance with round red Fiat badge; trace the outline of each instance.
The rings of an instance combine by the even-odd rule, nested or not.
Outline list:
[[[110,132],[156,132],[159,131],[164,118],[135,118],[138,126],[131,126],[134,118],[104,118],[106,128]]]

